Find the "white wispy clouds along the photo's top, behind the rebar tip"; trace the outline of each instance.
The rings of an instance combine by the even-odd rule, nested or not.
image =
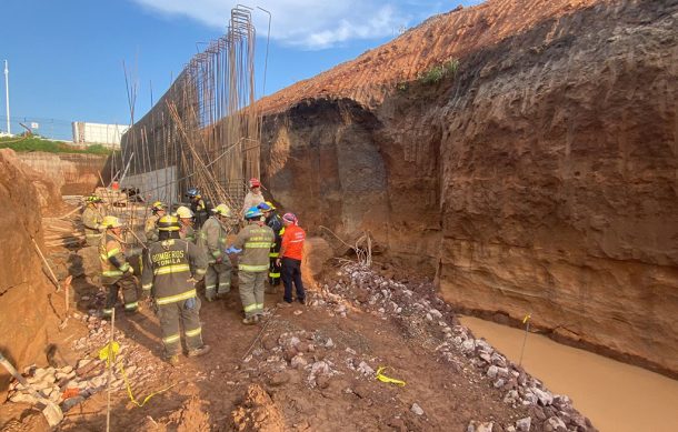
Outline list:
[[[144,8],[168,16],[185,16],[223,31],[236,3],[223,0],[133,0]],[[276,0],[255,3],[272,14],[271,39],[301,49],[325,49],[356,39],[391,36],[413,20],[438,9],[439,2],[400,0],[385,4],[378,0]],[[426,12],[423,12],[426,11]],[[426,13],[426,14],[423,14]],[[259,34],[268,29],[268,16],[255,9]]]

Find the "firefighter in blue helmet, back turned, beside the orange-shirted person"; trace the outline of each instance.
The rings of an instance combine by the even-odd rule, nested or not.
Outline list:
[[[276,241],[273,230],[266,225],[261,210],[252,207],[245,213],[246,227],[240,230],[231,251],[242,250],[239,260],[240,300],[245,310],[242,323],[255,324],[263,313],[263,282],[269,269],[269,251]]]

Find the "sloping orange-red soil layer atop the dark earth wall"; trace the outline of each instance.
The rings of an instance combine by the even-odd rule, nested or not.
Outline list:
[[[546,19],[601,2],[605,1],[488,0],[441,13],[355,60],[261,99],[259,108],[270,114],[305,99],[321,98],[350,98],[373,107],[397,83],[415,80],[431,67],[496,44]]]

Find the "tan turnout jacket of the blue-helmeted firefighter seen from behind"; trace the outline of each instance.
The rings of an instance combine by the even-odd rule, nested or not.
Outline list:
[[[237,249],[242,249],[238,268],[248,272],[268,271],[268,254],[275,242],[276,235],[269,227],[256,223],[245,227],[233,243]]]

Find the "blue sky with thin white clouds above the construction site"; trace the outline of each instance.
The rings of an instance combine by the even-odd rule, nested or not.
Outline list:
[[[428,17],[479,0],[261,0],[257,97],[351,60]],[[1,0],[0,60],[9,61],[11,129],[70,139],[72,121],[130,123],[126,73],[137,82],[134,118],[157,101],[183,66],[226,33],[228,0]],[[270,46],[263,66],[271,13]],[[0,73],[3,66],[0,66]],[[6,131],[4,76],[0,131]]]

